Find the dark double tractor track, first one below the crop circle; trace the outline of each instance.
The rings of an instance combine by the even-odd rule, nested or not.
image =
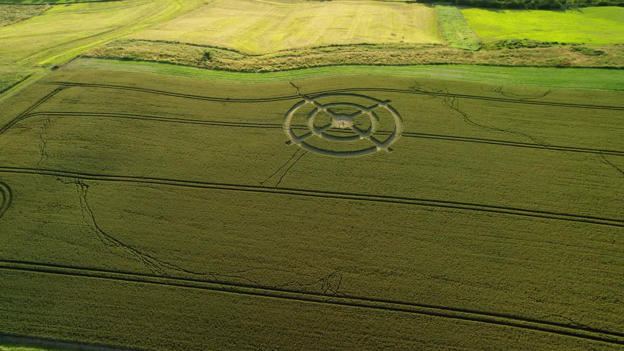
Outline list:
[[[79,172],[66,172],[53,169],[34,169],[27,167],[0,167],[0,172],[17,174],[39,174],[52,175],[55,177],[67,177],[73,179],[104,180],[114,182],[135,182],[145,184],[172,185],[180,187],[194,187],[203,189],[220,189],[243,192],[260,192],[268,194],[295,195],[308,197],[323,197],[328,199],[361,200],[373,202],[387,202],[391,204],[419,205],[427,207],[441,207],[448,209],[473,210],[479,212],[490,212],[495,214],[520,215],[526,217],[536,217],[545,219],[567,220],[571,222],[582,222],[588,224],[610,225],[612,227],[623,227],[624,219],[610,219],[590,215],[567,214],[562,212],[551,212],[545,210],[520,209],[517,207],[474,204],[470,202],[446,201],[434,199],[419,199],[414,197],[357,194],[350,192],[321,191],[310,189],[296,189],[288,187],[266,188],[253,185],[227,184],[199,182],[179,179],[138,177],[134,175],[111,175],[111,174],[89,174]]]

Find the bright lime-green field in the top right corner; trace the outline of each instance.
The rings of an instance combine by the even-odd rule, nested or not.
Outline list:
[[[462,9],[484,41],[539,41],[614,44],[624,42],[624,7],[586,7],[568,11]]]

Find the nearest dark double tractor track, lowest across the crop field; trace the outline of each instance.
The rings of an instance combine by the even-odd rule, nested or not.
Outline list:
[[[485,324],[505,325],[519,329],[536,330],[551,334],[565,335],[580,339],[596,340],[608,344],[624,345],[624,334],[585,328],[570,324],[558,324],[544,322],[535,319],[522,319],[512,315],[489,314],[474,310],[449,309],[442,306],[410,304],[401,301],[369,299],[349,295],[324,295],[311,292],[297,292],[286,289],[266,289],[246,284],[224,284],[212,280],[198,280],[188,278],[160,277],[158,275],[134,274],[130,272],[117,272],[112,270],[94,270],[79,267],[47,265],[35,262],[19,262],[0,260],[0,269],[20,270],[37,272],[42,274],[71,275],[76,277],[88,277],[95,279],[124,280],[142,284],[168,285],[172,287],[185,287],[190,289],[213,290],[232,294],[244,294],[275,299],[299,300],[317,304],[333,304],[366,309],[388,310],[412,314],[431,315],[448,319],[468,320]]]

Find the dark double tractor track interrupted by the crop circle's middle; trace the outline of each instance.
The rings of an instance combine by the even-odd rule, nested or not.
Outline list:
[[[144,116],[137,114],[103,114],[103,113],[94,113],[94,112],[35,112],[31,114],[26,114],[22,116],[19,120],[11,121],[7,126],[5,126],[2,131],[7,131],[15,124],[24,121],[29,117],[66,117],[66,116],[80,116],[80,117],[111,117],[111,118],[126,118],[126,119],[141,119],[147,121],[159,121],[159,122],[172,122],[172,123],[187,123],[187,124],[200,124],[200,125],[208,125],[208,126],[222,126],[222,127],[241,127],[241,128],[268,128],[268,129],[283,129],[282,124],[263,124],[263,123],[244,123],[244,122],[223,122],[223,121],[205,121],[200,119],[180,119],[180,118],[170,118],[170,117],[160,117],[160,116]],[[292,125],[293,129],[300,130],[308,130],[308,126],[303,125]],[[343,129],[329,129],[332,132],[339,133],[349,133],[349,131],[344,131]],[[390,135],[391,131],[377,131],[378,134]],[[0,132],[0,135],[2,132]],[[624,151],[616,151],[616,150],[604,150],[604,149],[588,149],[585,147],[572,147],[572,146],[556,146],[556,145],[542,145],[542,144],[532,144],[528,142],[513,142],[513,141],[503,141],[496,139],[482,139],[482,138],[474,138],[474,137],[462,137],[462,136],[447,136],[441,134],[425,134],[425,133],[416,133],[416,132],[402,132],[402,137],[416,137],[423,139],[440,139],[447,141],[462,141],[462,142],[477,142],[482,144],[494,144],[501,146],[515,146],[515,147],[530,147],[533,149],[545,149],[545,150],[557,150],[557,151],[568,151],[568,152],[586,152],[589,154],[604,154],[604,155],[613,155],[613,156],[624,156]]]

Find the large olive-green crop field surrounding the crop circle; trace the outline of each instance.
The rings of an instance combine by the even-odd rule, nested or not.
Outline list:
[[[3,101],[0,330],[150,350],[617,350],[624,92],[345,71],[248,84],[69,65]],[[389,101],[394,151],[285,144],[298,94],[333,89]]]

